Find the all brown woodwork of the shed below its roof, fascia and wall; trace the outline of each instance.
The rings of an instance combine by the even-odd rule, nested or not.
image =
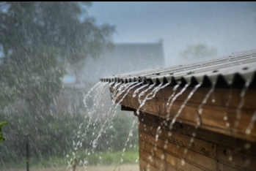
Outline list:
[[[256,111],[255,88],[249,88],[244,97],[241,97],[244,88],[215,88],[203,105],[211,88],[198,88],[183,106],[194,89],[189,87],[167,111],[167,101],[173,94],[172,87],[167,86],[147,100],[139,113],[136,113],[140,106],[138,94],[146,88],[134,97],[136,88],[123,92],[116,102],[123,98],[122,110],[134,111],[139,118],[140,170],[255,170],[256,126],[246,134]],[[176,94],[181,89],[178,88]],[[200,106],[202,114],[198,126]],[[177,119],[170,128],[174,118]]]

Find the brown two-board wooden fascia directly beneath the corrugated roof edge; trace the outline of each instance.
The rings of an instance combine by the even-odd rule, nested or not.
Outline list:
[[[139,107],[138,96],[132,96],[136,88],[131,89],[122,102],[120,102],[120,104],[124,106],[122,108],[136,110]],[[145,90],[145,88],[140,90],[138,94],[143,90]],[[181,88],[178,88],[176,94],[180,92],[180,90]],[[175,117],[178,110],[180,110],[180,106],[183,104],[192,90],[193,88],[187,88],[186,91],[178,96],[175,102],[173,102],[171,110],[169,111],[169,119],[172,120],[172,118]],[[199,106],[209,91],[210,88],[198,88],[194,95],[191,96],[191,99],[189,99],[189,101],[186,103],[185,107],[177,118],[177,121],[191,126],[197,126],[197,113]],[[249,89],[246,91],[244,98],[240,97],[241,91],[243,91],[243,88],[233,88],[232,96],[229,100],[229,88],[215,88],[208,101],[202,105],[202,124],[200,128],[210,130],[212,132],[226,134],[231,137],[249,140],[250,142],[256,142],[256,126],[252,128],[249,135],[245,134],[246,129],[252,120],[252,115],[256,111],[256,89]],[[116,102],[119,102],[125,93],[120,95]],[[167,118],[166,104],[169,96],[171,96],[172,93],[172,87],[167,86],[166,88],[161,89],[156,93],[156,96],[153,99],[147,100],[145,105],[141,107],[140,110],[151,115],[156,115],[159,118]],[[145,96],[146,95],[147,93]],[[141,99],[144,99],[145,96],[142,96]],[[214,101],[212,101],[212,99],[214,99]],[[241,107],[241,110],[238,110],[238,106],[241,105],[243,101],[244,105]],[[230,102],[228,107],[226,106],[227,102]],[[240,119],[237,119],[237,113],[241,113]],[[224,120],[224,116],[227,116],[226,121]],[[238,126],[235,126],[236,121],[239,121]]]

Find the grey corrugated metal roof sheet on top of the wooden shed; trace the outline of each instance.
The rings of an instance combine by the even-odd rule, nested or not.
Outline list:
[[[196,64],[147,69],[100,78],[102,82],[143,82],[147,84],[171,83],[202,84],[202,86],[244,86],[249,82],[255,86],[256,51],[237,56],[219,58]]]

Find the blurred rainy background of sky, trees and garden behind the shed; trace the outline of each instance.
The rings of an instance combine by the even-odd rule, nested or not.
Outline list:
[[[256,49],[255,2],[1,1],[0,20],[0,170],[24,170],[27,143],[38,170],[138,165],[134,114],[105,124],[104,85],[84,99],[100,77]]]

